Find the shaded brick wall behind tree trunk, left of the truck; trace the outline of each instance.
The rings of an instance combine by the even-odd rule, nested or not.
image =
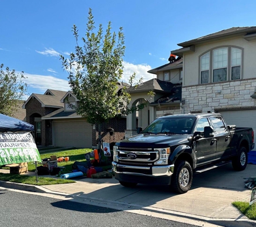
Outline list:
[[[95,125],[96,129],[93,129],[93,147],[98,144],[98,125]],[[109,128],[114,129],[113,136],[110,136]],[[105,143],[115,143],[122,140],[124,137],[124,130],[126,130],[126,118],[112,118],[108,123],[103,123],[101,128],[101,134]]]

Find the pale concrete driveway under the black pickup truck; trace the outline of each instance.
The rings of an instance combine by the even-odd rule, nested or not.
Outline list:
[[[6,172],[0,169],[0,172],[4,171]],[[168,186],[138,185],[135,188],[125,188],[114,178],[73,178],[76,183],[22,187],[33,188],[39,192],[49,193],[50,190],[53,194],[63,193],[87,201],[88,204],[107,204],[114,209],[155,212],[158,217],[174,215],[219,226],[256,226],[256,221],[249,220],[231,204],[234,201],[250,200],[251,190],[245,188],[243,178],[253,175],[256,175],[256,165],[248,165],[245,171],[241,172],[233,171],[232,165],[227,164],[203,173],[195,173],[191,189],[182,195],[170,193]],[[47,177],[56,178],[51,175]],[[7,187],[2,185],[3,182],[0,182],[1,187]]]

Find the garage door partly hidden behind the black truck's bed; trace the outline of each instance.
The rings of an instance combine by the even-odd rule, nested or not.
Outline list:
[[[237,127],[252,127],[254,131],[254,141],[256,137],[256,110],[232,110],[218,111],[222,114],[228,125]],[[256,150],[254,148],[254,150]]]

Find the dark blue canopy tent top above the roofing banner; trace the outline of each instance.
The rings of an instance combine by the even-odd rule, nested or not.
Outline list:
[[[0,113],[0,132],[33,131],[34,126]]]

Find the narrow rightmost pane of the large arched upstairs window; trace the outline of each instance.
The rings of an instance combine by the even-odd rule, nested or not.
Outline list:
[[[231,80],[241,78],[242,51],[238,48],[231,48]]]

